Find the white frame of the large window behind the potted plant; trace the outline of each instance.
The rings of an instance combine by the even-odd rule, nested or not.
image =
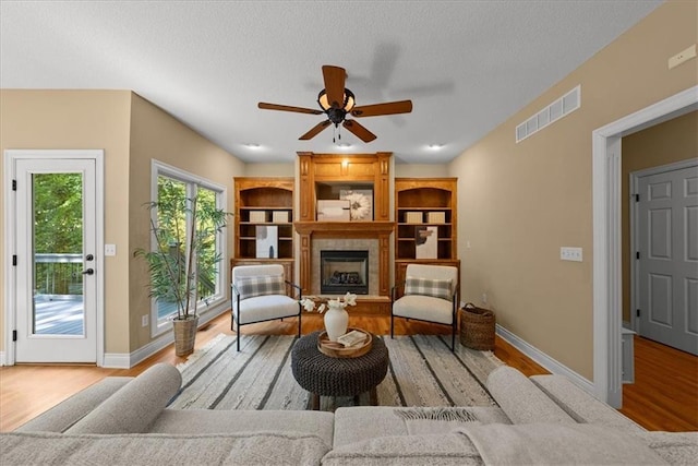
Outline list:
[[[206,178],[203,178],[198,175],[191,174],[186,170],[182,170],[181,168],[173,167],[171,165],[165,164],[163,162],[153,159],[151,167],[151,200],[156,202],[158,200],[158,179],[159,177],[170,178],[172,180],[182,182],[186,186],[185,192],[186,198],[194,198],[198,189],[206,189],[213,191],[216,196],[216,206],[218,208],[222,208],[224,211],[228,211],[228,189],[225,186],[217,184]],[[154,210],[152,213],[153,220],[157,224],[157,212]],[[191,217],[188,216],[186,225],[188,231],[189,226],[191,225]],[[196,313],[201,315],[206,309],[215,308],[216,306],[224,303],[227,299],[226,295],[226,270],[225,266],[225,258],[227,254],[227,228],[224,228],[222,231],[216,235],[216,252],[220,254],[222,258],[216,265],[218,271],[216,273],[216,292],[204,299],[200,299],[196,303]],[[151,250],[157,248],[157,241],[151,236]],[[156,337],[165,332],[171,331],[171,316],[173,313],[168,314],[167,316],[159,318],[158,315],[158,304],[157,300],[153,298],[151,300],[151,336]]]

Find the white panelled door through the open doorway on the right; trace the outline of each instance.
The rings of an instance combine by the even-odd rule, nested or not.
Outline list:
[[[637,186],[639,333],[698,355],[698,166]]]

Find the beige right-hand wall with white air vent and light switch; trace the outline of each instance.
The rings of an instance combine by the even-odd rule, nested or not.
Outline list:
[[[589,380],[591,133],[697,84],[695,60],[666,67],[697,41],[697,15],[693,1],[659,7],[450,164],[464,300],[486,292],[502,326]],[[515,143],[518,123],[578,84],[579,110]],[[562,246],[583,248],[583,262],[562,262]]]

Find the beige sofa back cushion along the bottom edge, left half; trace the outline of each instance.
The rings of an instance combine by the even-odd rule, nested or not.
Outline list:
[[[329,446],[300,433],[0,434],[3,465],[317,465]]]

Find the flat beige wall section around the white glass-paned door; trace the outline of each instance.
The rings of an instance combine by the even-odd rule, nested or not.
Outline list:
[[[129,239],[129,207],[123,202],[129,187],[128,91],[0,91],[0,147],[8,148],[101,148],[105,151],[105,242],[125,247]],[[0,170],[3,168],[0,167]],[[2,175],[0,178],[4,177]],[[0,196],[5,190],[0,190]],[[0,205],[4,205],[0,199]],[[4,215],[2,215],[3,217]],[[0,218],[0,222],[4,222]],[[0,235],[0,263],[7,261],[3,224]],[[0,284],[4,295],[4,267]],[[129,349],[128,277],[129,254],[105,258],[106,347],[109,353]],[[0,302],[4,302],[4,296]],[[4,313],[0,313],[4,322]],[[124,331],[124,332],[121,332]],[[4,335],[4,324],[0,325]],[[2,349],[4,338],[0,340]]]

